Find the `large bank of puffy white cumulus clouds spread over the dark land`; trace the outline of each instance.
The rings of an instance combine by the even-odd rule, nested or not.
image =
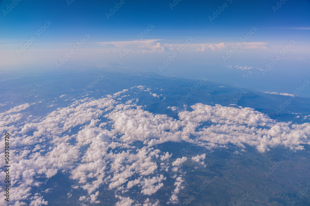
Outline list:
[[[152,95],[149,88],[140,88]],[[85,191],[83,201],[99,203],[98,189],[106,185],[118,199],[117,205],[138,204],[125,195],[129,189],[152,195],[164,187],[165,175],[172,172],[179,177],[174,177],[175,189],[169,203],[176,203],[184,183],[181,175],[186,175],[179,168],[188,158],[204,165],[206,154],[172,161],[172,153],[155,148],[157,145],[188,142],[205,149],[251,145],[265,152],[276,146],[302,150],[304,144],[310,144],[309,123],[279,122],[248,107],[201,103],[184,111],[169,107],[177,112],[176,119],[146,111],[136,101],[119,102],[136,89],[75,101],[36,121],[23,115],[29,104],[0,113],[6,120],[0,130],[3,133],[9,128],[14,142],[11,190],[15,203],[47,204],[44,193],[32,194],[31,188],[44,185],[39,179],[49,179],[60,172],[78,181],[72,189]],[[203,126],[205,123],[209,126]],[[1,144],[4,145],[3,139]],[[163,171],[167,173],[162,174]],[[4,195],[2,187],[0,195]]]

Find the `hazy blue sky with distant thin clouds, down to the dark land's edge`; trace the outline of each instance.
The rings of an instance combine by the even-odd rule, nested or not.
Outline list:
[[[279,93],[308,75],[309,0],[13,3],[0,1],[1,72],[113,67]]]

